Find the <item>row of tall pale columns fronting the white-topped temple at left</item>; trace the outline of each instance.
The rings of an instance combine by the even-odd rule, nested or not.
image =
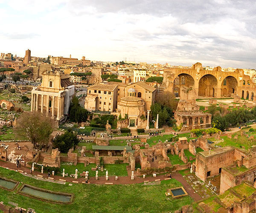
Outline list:
[[[57,108],[57,120],[62,118],[64,116],[64,96],[58,97],[54,95],[46,95],[47,96],[47,101],[46,104],[44,104],[44,94],[37,94],[34,93],[31,95],[31,112],[38,112],[38,106],[39,106],[39,95],[41,95],[41,113],[44,112],[44,105],[46,105],[46,116],[49,116],[49,101],[50,101],[50,96],[52,96],[52,118],[55,117],[54,112],[55,112],[55,101],[58,101],[58,108]]]

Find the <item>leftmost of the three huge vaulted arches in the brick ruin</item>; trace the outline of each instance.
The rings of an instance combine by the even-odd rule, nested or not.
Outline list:
[[[181,73],[178,75],[173,82],[173,92],[176,97],[180,97],[180,88],[182,86],[188,87],[188,88],[194,88],[195,81],[194,78],[191,75]]]

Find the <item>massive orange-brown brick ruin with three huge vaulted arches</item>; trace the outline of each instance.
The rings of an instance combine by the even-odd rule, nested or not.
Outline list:
[[[201,63],[195,63],[190,68],[166,68],[163,77],[162,86],[166,88],[166,91],[177,91],[175,87],[178,88],[178,86],[183,85],[180,83],[178,86],[175,85],[175,78],[185,77],[185,84],[189,79],[194,80],[194,86],[187,87],[194,89],[195,94],[197,94],[195,98],[225,98],[233,95],[239,95],[242,98],[242,91],[244,91],[244,99],[246,99],[248,91],[249,99],[254,97],[254,101],[256,101],[256,86],[250,76],[244,75],[243,69],[236,69],[235,72],[222,72],[220,66],[213,70],[206,70],[201,66]],[[180,81],[182,81],[181,78]],[[179,92],[177,93],[179,94]]]

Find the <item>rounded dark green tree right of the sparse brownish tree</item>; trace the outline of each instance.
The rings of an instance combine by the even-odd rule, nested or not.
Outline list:
[[[67,130],[62,135],[57,135],[53,140],[53,147],[58,148],[61,153],[67,153],[70,148],[78,145],[79,138],[72,130]]]

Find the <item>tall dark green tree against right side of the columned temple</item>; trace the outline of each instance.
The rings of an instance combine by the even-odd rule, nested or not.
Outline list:
[[[85,122],[87,120],[88,111],[79,105],[78,98],[73,97],[69,108],[69,119],[73,122]]]

